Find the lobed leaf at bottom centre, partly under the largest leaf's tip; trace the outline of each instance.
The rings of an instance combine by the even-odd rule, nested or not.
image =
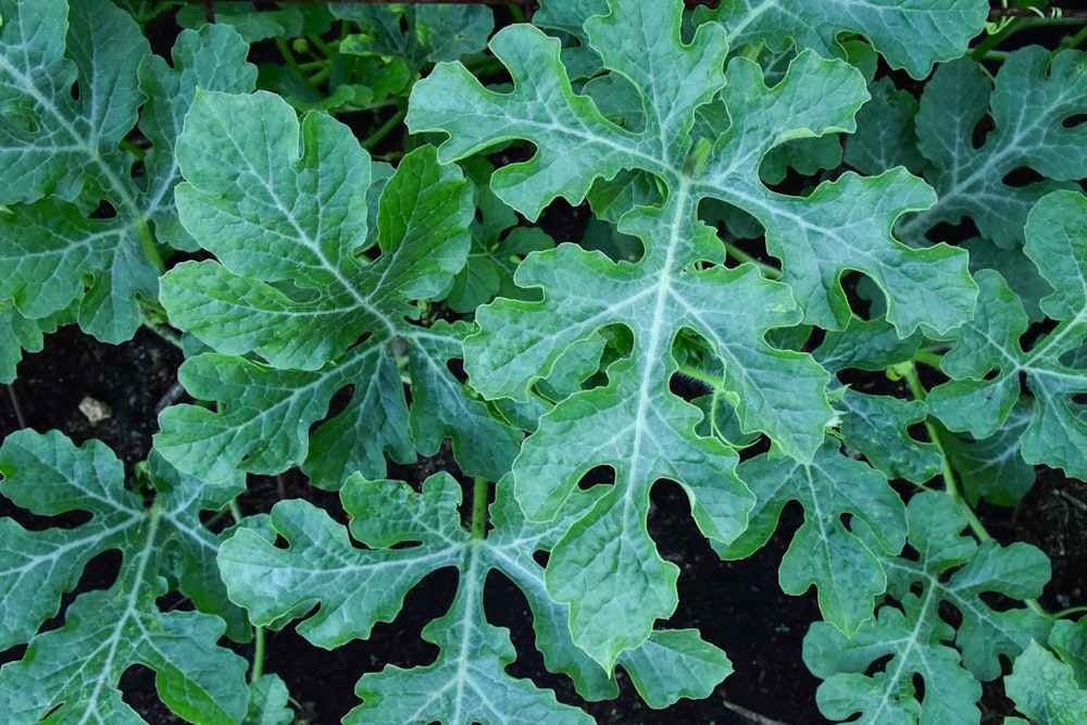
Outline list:
[[[271,528],[242,528],[225,542],[220,565],[232,597],[254,622],[283,626],[320,604],[298,632],[326,648],[368,637],[374,623],[397,615],[404,595],[426,574],[457,567],[460,582],[450,610],[423,630],[440,649],[437,661],[364,675],[357,687],[363,704],[346,722],[497,723],[529,722],[529,716],[536,722],[588,722],[550,692],[503,672],[515,652],[508,635],[486,621],[483,592],[491,571],[508,576],[527,598],[549,668],[569,674],[591,699],[616,691],[603,670],[571,641],[567,608],[547,596],[544,570],[533,560],[569,522],[528,523],[509,490],[505,478],[490,507],[493,528],[480,539],[461,527],[460,487],[447,474],[432,476],[421,493],[399,482],[354,476],[340,496],[351,536],[370,549],[354,547],[348,532],[314,507],[288,501],[273,509]],[[574,512],[591,504],[594,496],[582,492],[577,498]],[[276,533],[288,548],[275,547]],[[659,642],[647,647],[624,666],[642,683],[647,697],[662,705],[687,693],[707,695],[729,671],[723,653],[694,633],[661,633]],[[670,662],[683,663],[690,679],[657,682],[657,673]]]

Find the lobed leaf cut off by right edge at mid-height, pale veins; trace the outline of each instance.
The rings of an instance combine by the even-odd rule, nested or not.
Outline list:
[[[1026,236],[1024,252],[1053,289],[1041,310],[1057,327],[1024,350],[1022,303],[999,274],[982,270],[977,313],[949,338],[954,348],[941,363],[954,379],[933,389],[928,404],[952,430],[988,438],[1008,422],[1025,374],[1034,401],[1033,420],[1022,434],[1023,459],[1084,478],[1087,418],[1075,396],[1087,392],[1087,378],[1083,361],[1072,357],[1087,338],[1087,198],[1071,191],[1046,197],[1030,212]]]

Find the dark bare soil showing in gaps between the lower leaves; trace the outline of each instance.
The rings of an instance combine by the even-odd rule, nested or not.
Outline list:
[[[64,328],[48,338],[41,353],[26,357],[11,391],[26,426],[38,430],[57,428],[77,442],[100,438],[130,471],[147,454],[155,429],[157,408],[173,386],[179,362],[180,354],[170,343],[146,330],[134,341],[114,347]],[[79,411],[79,402],[87,396],[109,405],[112,416],[91,425]],[[21,423],[9,398],[0,404],[0,435],[7,436],[18,427]],[[421,461],[416,466],[400,466],[395,474],[421,480],[435,466],[446,463],[442,455]],[[240,504],[248,514],[267,511],[280,498],[307,498],[332,512],[338,510],[335,495],[308,486],[297,472],[275,478],[252,477]],[[1053,580],[1041,602],[1050,611],[1083,600],[1082,572],[1087,561],[1087,542],[1083,537],[1087,529],[1085,501],[1087,486],[1041,471],[1034,490],[1019,508],[983,505],[980,509],[986,525],[1000,540],[1029,541],[1049,554]],[[0,514],[13,513],[22,520],[26,517],[26,512],[14,512],[0,498]],[[560,700],[585,708],[599,723],[825,722],[814,704],[819,682],[801,660],[804,633],[819,618],[813,592],[802,598],[788,597],[777,585],[777,564],[801,515],[799,508],[787,508],[780,530],[766,547],[748,560],[722,562],[698,535],[682,490],[670,484],[659,484],[653,489],[650,533],[662,555],[682,570],[679,609],[666,624],[699,628],[705,639],[728,653],[736,668],[710,698],[682,700],[667,711],[653,711],[640,701],[620,671],[619,699],[583,702],[567,678],[545,671],[542,658],[533,645],[525,600],[501,576],[493,575],[487,585],[488,616],[512,632],[518,659],[510,666],[510,673],[554,689]],[[342,513],[337,517],[342,518]],[[115,563],[100,558],[91,567],[99,564],[103,571],[88,571],[80,588],[112,584]],[[405,666],[434,660],[437,650],[423,641],[420,632],[443,613],[454,587],[455,573],[435,573],[412,591],[395,622],[378,625],[365,642],[352,642],[332,652],[312,647],[292,627],[270,633],[266,671],[277,673],[287,683],[301,717],[313,723],[339,722],[359,704],[353,686],[363,673],[378,671],[388,663]],[[0,663],[21,658],[23,651],[24,648],[14,648],[0,653]],[[132,668],[122,686],[126,700],[148,722],[180,722],[158,703],[153,674],[149,671]],[[1000,708],[999,688],[987,699]],[[740,714],[742,711],[747,714]]]

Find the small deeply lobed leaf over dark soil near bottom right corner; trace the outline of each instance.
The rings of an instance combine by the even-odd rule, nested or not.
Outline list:
[[[982,595],[1036,597],[1049,560],[1026,543],[961,536],[966,516],[946,493],[917,493],[907,516],[916,559],[882,562],[897,604],[880,607],[851,636],[816,622],[804,638],[804,662],[826,680],[816,701],[834,720],[860,713],[850,720],[858,723],[978,723],[980,682],[1000,676],[1000,655],[1019,655],[1051,626],[1026,608],[997,611]],[[940,616],[942,602],[960,613],[958,627]]]

